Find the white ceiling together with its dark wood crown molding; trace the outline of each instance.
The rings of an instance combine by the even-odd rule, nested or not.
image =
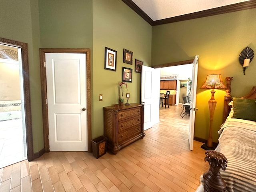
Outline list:
[[[122,0],[152,26],[256,8],[256,0]]]

